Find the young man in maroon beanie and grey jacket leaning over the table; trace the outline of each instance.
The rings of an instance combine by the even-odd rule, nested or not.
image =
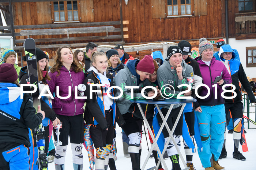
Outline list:
[[[122,127],[123,131],[129,138],[129,154],[132,161],[132,169],[140,170],[140,154],[141,149],[141,127],[138,126],[136,120],[132,116],[134,106],[129,100],[143,100],[141,90],[145,86],[153,86],[148,81],[148,78],[153,74],[155,70],[153,58],[150,55],[146,55],[140,60],[128,60],[127,64],[122,70],[120,70],[114,77],[114,85],[123,89],[123,95],[117,99],[117,106],[123,115],[125,124]],[[125,86],[139,86],[139,88],[125,88]],[[133,94],[132,94],[133,93]],[[152,89],[147,89],[144,94],[151,97],[155,94]],[[117,95],[120,95],[120,91],[117,90]],[[133,98],[131,97],[133,95]],[[160,91],[158,90],[158,95]]]

